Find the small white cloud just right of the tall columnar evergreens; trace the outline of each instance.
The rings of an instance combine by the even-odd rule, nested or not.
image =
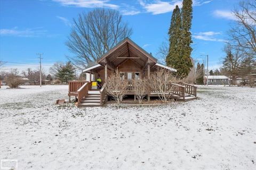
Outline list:
[[[220,41],[220,42],[225,41],[224,39],[215,37],[216,35],[221,35],[221,32],[213,32],[213,31],[198,32],[198,33],[194,33],[193,38],[199,39],[199,40],[205,40],[205,41]]]

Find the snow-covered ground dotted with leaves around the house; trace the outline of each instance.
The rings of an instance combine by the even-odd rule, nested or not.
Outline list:
[[[76,108],[68,86],[0,89],[0,158],[18,169],[256,169],[256,88],[198,100]]]

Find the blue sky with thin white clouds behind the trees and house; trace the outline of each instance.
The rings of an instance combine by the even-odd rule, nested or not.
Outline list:
[[[231,10],[239,1],[195,0],[193,6],[193,54],[202,58],[209,54],[210,68],[220,66],[223,41],[229,24],[234,20]],[[53,0],[53,1],[0,1],[0,60],[29,63],[6,63],[0,70],[18,67],[36,68],[37,53],[43,54],[43,67],[48,72],[56,61],[66,61],[72,55],[65,46],[73,18],[94,7],[120,10],[124,21],[133,28],[131,39],[147,52],[157,53],[167,37],[175,5],[182,1],[101,1],[101,0]]]

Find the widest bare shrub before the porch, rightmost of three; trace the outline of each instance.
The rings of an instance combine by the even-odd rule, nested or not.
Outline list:
[[[163,103],[167,103],[173,95],[175,87],[172,83],[177,83],[179,80],[168,70],[158,69],[151,73],[149,85],[151,90],[157,92],[157,95]]]

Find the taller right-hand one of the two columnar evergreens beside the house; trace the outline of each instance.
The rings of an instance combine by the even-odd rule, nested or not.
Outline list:
[[[190,46],[191,43],[193,43],[191,38],[191,25],[192,25],[192,14],[193,14],[193,8],[192,8],[192,0],[183,0],[182,2],[182,38],[181,38],[181,62],[182,65],[180,69],[178,70],[178,75],[180,77],[187,77],[190,68],[193,67],[192,61],[191,61],[191,52],[192,48]]]

